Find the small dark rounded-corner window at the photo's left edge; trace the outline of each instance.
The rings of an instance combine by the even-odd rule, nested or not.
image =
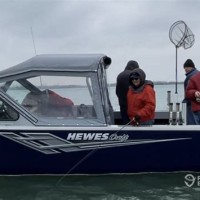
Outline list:
[[[0,121],[15,121],[19,114],[0,98]]]

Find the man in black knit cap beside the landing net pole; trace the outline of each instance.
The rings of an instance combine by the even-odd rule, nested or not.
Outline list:
[[[184,91],[185,91],[185,98],[183,100],[183,103],[186,103],[187,106],[187,119],[186,119],[186,123],[187,125],[194,125],[195,123],[195,119],[194,119],[194,115],[192,113],[191,110],[191,100],[189,100],[188,98],[186,98],[186,88],[188,86],[188,82],[190,80],[190,78],[195,75],[198,70],[195,68],[195,65],[193,63],[193,61],[191,59],[187,59],[185,61],[185,63],[183,64],[183,68],[185,70],[185,81],[184,81]]]

